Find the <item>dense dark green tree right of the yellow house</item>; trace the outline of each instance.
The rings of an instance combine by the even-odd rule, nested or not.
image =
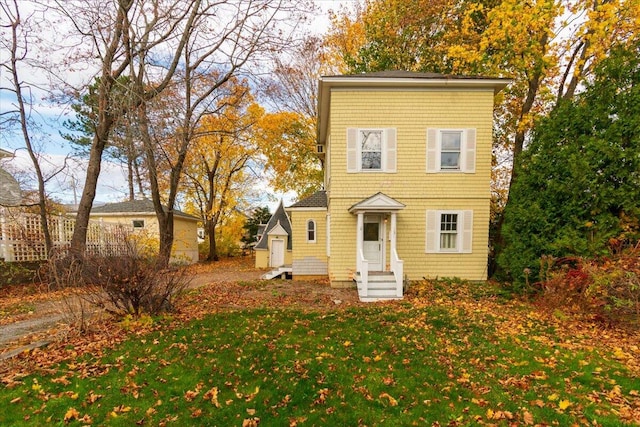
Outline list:
[[[517,163],[499,258],[535,280],[542,255],[597,256],[640,237],[640,44],[616,48],[594,81],[541,120]]]

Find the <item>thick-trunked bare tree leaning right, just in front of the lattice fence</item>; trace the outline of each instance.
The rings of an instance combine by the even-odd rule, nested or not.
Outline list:
[[[188,40],[185,28],[190,28],[201,13],[200,3],[199,0],[117,0],[106,4],[94,0],[54,2],[57,12],[70,23],[71,37],[81,41],[74,52],[76,59],[93,61],[91,65],[99,70],[93,138],[71,239],[70,250],[75,257],[84,254],[102,154],[114,124],[127,111],[117,95],[126,93],[131,87],[120,87],[121,77],[131,67],[144,65],[155,58],[162,62],[162,67],[157,68],[162,72],[154,76],[153,87],[138,94],[141,96],[137,98],[137,104],[144,105],[161,93],[172,81],[181,61]]]

